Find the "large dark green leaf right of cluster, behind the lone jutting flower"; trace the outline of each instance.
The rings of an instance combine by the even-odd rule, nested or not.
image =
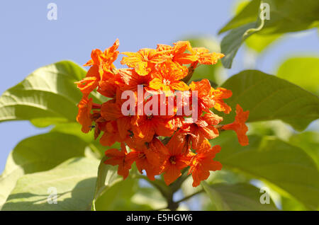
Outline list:
[[[222,86],[233,91],[233,96],[226,100],[233,111],[237,103],[250,110],[248,122],[282,120],[294,129],[303,130],[319,117],[318,96],[261,71],[242,71]],[[234,116],[235,112],[223,122],[232,122]]]

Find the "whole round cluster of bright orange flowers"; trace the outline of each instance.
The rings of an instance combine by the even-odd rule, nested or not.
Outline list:
[[[230,113],[231,108],[224,99],[232,96],[231,91],[215,89],[207,79],[187,84],[199,64],[216,64],[223,54],[211,53],[203,47],[191,47],[188,41],[179,41],[173,46],[157,45],[156,49],[123,52],[121,54],[125,57],[121,64],[128,68],[116,69],[113,62],[119,54],[118,45],[116,40],[104,52],[93,50],[91,59],[84,64],[90,67],[86,77],[76,83],[83,93],[77,115],[82,132],[87,133],[94,128],[95,139],[103,132],[99,139],[103,146],[121,143],[121,149],[106,151],[108,158],[105,161],[106,164],[118,166],[119,175],[127,178],[135,162],[138,171],[145,171],[150,180],[163,173],[164,181],[169,185],[189,167],[189,174],[194,179],[193,186],[196,187],[201,180],[208,178],[209,171],[222,168],[218,161],[213,160],[220,146],[211,146],[208,140],[218,137],[221,130],[233,129],[240,144],[248,144],[245,125],[248,111],[244,112],[237,105],[235,122],[229,125],[220,125],[223,117],[211,111]],[[165,115],[144,111],[136,115],[123,115],[125,100],[122,94],[130,90],[137,99],[138,85],[143,86],[143,96],[151,93],[143,100],[145,104],[162,95],[162,91],[196,91],[198,120],[184,113],[183,104],[186,103],[174,105],[172,112]],[[101,105],[93,103],[89,94],[94,90],[109,100]],[[164,96],[164,101],[158,104],[168,105],[168,98]],[[174,103],[176,98],[174,95]],[[191,101],[189,106],[192,106]],[[138,108],[138,103],[134,107]],[[179,110],[182,112],[180,115],[177,113]]]

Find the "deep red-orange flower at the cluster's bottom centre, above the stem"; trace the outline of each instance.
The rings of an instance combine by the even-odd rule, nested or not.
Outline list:
[[[186,142],[186,135],[177,134],[166,145],[168,151],[162,172],[164,173],[164,181],[167,185],[179,178],[181,170],[189,166],[189,161],[194,156],[191,151],[185,152]]]

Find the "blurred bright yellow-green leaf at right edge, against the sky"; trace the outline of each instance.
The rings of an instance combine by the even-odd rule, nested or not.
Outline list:
[[[319,58],[294,57],[280,65],[276,75],[319,95]]]

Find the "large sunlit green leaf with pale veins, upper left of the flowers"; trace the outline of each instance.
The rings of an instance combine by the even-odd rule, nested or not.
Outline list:
[[[33,71],[25,80],[0,97],[0,122],[30,120],[45,127],[75,121],[81,92],[74,81],[86,71],[74,62],[62,61]]]

